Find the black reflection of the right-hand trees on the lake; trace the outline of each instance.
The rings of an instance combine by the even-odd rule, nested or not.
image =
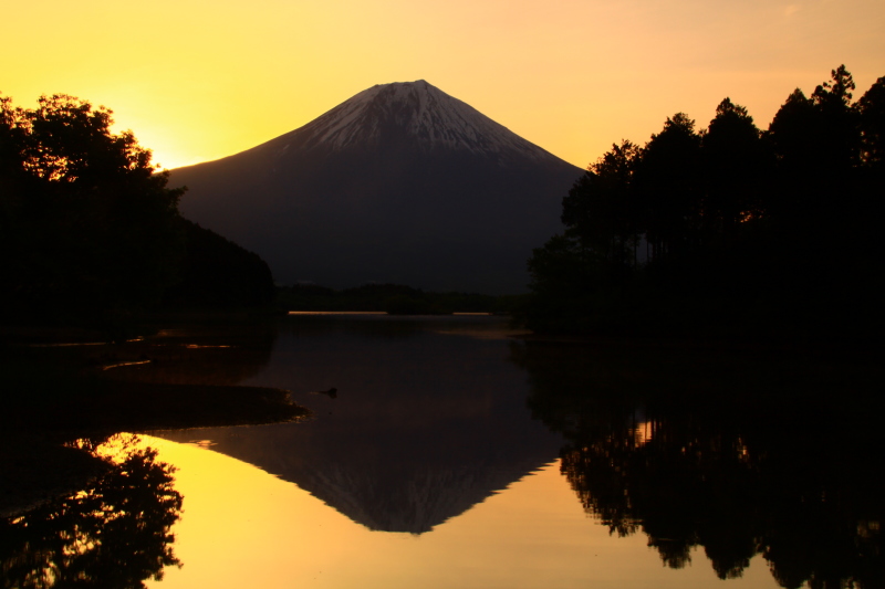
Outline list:
[[[585,511],[681,568],[761,554],[782,587],[885,587],[877,383],[864,362],[528,343],[530,407]]]

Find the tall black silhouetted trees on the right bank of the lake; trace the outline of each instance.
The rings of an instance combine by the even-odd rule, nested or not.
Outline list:
[[[882,325],[885,77],[853,102],[844,66],[760,130],[725,98],[623,141],[563,199],[529,261],[530,327],[832,335]]]

